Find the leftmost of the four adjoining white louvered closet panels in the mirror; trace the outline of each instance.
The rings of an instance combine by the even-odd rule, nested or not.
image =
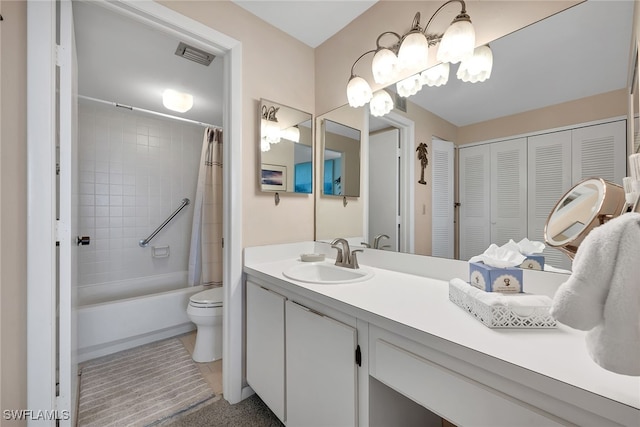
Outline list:
[[[490,146],[460,149],[460,259],[483,253],[489,232]]]

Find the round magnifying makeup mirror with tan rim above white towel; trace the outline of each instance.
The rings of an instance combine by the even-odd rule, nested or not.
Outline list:
[[[620,185],[601,178],[585,179],[556,203],[544,227],[544,240],[573,259],[592,229],[622,214],[625,208]]]

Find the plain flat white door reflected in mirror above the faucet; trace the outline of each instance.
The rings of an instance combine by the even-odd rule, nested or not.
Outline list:
[[[369,136],[369,241],[380,249],[400,248],[400,131],[390,129]],[[392,161],[392,159],[394,159]],[[388,246],[388,247],[387,247]]]

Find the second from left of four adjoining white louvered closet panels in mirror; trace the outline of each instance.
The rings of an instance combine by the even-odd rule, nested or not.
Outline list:
[[[491,243],[527,237],[527,139],[491,144]]]

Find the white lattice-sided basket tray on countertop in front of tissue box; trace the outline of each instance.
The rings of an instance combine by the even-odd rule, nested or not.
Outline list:
[[[549,314],[550,306],[519,306],[514,309],[506,305],[488,305],[451,282],[449,300],[489,328],[557,328],[556,319]]]

